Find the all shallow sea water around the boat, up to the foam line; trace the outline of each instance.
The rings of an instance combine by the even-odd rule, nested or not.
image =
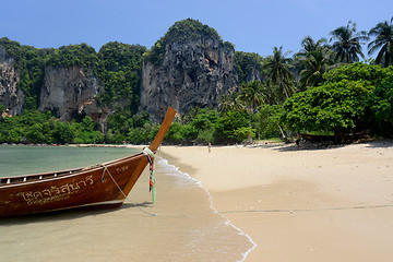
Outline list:
[[[139,150],[0,146],[1,176],[83,167]],[[0,261],[242,261],[252,241],[217,214],[210,193],[164,158],[157,200],[148,168],[121,209],[0,219]],[[142,211],[141,211],[142,210]]]

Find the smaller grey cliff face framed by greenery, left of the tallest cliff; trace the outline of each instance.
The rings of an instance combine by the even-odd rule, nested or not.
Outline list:
[[[51,110],[61,120],[70,121],[78,115],[86,115],[99,121],[105,112],[95,100],[98,92],[93,70],[80,66],[46,67],[39,110]]]

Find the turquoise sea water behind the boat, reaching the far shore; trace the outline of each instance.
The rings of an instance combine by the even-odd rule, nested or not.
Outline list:
[[[0,145],[0,177],[85,167],[139,152],[127,147]]]

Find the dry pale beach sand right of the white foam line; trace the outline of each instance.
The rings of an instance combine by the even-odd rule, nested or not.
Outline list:
[[[251,237],[246,261],[392,261],[393,143],[163,146]]]

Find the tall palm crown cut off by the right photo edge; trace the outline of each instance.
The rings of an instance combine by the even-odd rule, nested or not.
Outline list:
[[[376,36],[376,39],[368,45],[369,55],[373,53],[378,49],[380,51],[377,55],[376,62],[388,68],[393,64],[393,16],[390,21],[377,24],[369,32],[369,36]]]

